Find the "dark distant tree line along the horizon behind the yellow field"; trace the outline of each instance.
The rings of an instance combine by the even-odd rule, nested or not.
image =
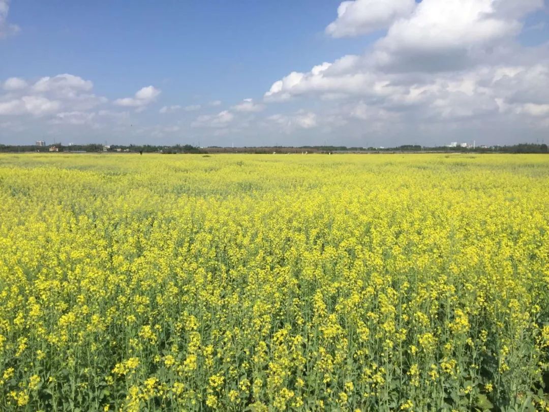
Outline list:
[[[59,152],[123,152],[123,153],[337,153],[337,152],[458,152],[458,153],[549,153],[545,143],[519,143],[507,146],[477,146],[472,147],[449,147],[436,146],[427,147],[419,144],[403,144],[402,146],[378,148],[378,147],[347,147],[347,146],[270,146],[270,147],[197,147],[192,144],[176,144],[175,146],[155,146],[153,144],[111,144],[104,146],[99,143],[72,144],[65,146],[61,143],[49,144],[47,146],[35,146],[31,144],[14,145],[0,144],[0,152],[49,152],[50,148],[56,147]]]

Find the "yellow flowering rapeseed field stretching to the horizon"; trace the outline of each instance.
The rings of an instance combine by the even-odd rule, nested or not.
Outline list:
[[[549,410],[549,156],[0,155],[0,410]]]

